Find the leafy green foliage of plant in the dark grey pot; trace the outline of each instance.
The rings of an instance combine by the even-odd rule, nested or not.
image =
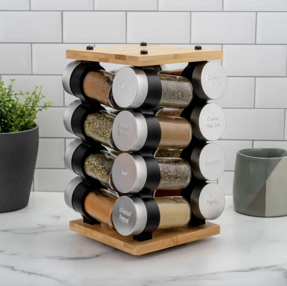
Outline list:
[[[19,91],[14,93],[10,80],[8,87],[0,82],[0,133],[18,132],[35,127],[37,113],[52,106],[51,101],[43,103],[38,107],[40,100],[45,96],[42,94],[42,86],[35,86],[32,93]],[[20,97],[23,97],[20,100]]]

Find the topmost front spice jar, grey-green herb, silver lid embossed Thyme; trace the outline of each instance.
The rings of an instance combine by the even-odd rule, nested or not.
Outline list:
[[[185,108],[189,105],[193,89],[187,78],[166,74],[158,74],[158,78],[159,86],[156,88],[161,89],[161,95],[157,106]],[[118,106],[138,108],[144,103],[149,105],[155,102],[155,93],[151,88],[147,75],[142,69],[123,67],[115,75],[112,93]]]

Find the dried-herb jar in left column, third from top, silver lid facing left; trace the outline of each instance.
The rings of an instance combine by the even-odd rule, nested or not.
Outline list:
[[[80,138],[72,141],[64,155],[65,166],[82,177],[93,178],[106,187],[115,189],[112,182],[112,166],[116,156],[88,146]]]

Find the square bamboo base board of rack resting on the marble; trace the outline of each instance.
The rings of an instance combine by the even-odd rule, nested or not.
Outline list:
[[[132,239],[132,235],[120,235],[103,224],[86,224],[83,219],[70,221],[70,230],[132,255],[142,255],[219,234],[220,226],[206,221],[205,224],[198,227],[187,226],[173,230],[158,230],[153,233],[152,239],[141,242]]]

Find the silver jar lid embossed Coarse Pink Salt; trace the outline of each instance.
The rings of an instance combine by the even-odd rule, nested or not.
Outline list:
[[[194,136],[199,140],[215,141],[225,131],[226,118],[216,103],[207,103],[193,109],[190,123]]]

